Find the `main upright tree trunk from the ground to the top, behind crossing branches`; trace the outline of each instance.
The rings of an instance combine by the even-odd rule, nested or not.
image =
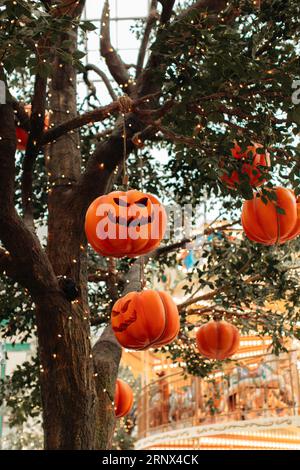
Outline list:
[[[60,41],[70,35],[62,35]],[[68,52],[76,47],[76,31],[72,37]],[[59,125],[77,114],[76,70],[59,56],[54,58],[53,68],[51,123]],[[61,291],[36,300],[45,448],[95,449],[99,414],[90,343],[86,242],[82,223],[78,223],[82,217],[72,199],[72,186],[81,170],[77,132],[51,145],[47,170],[52,185],[47,253],[56,276],[72,282],[78,297],[70,301]]]

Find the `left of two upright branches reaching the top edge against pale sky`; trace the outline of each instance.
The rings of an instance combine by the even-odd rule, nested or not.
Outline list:
[[[105,0],[102,11],[100,52],[106,61],[106,65],[112,77],[116,80],[118,85],[120,85],[123,91],[130,95],[133,90],[133,85],[131,84],[128,69],[119,54],[112,46],[110,40],[110,15],[108,0]]]

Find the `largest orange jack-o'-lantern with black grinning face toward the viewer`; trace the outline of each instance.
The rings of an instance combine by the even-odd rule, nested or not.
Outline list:
[[[156,197],[137,190],[100,196],[88,208],[85,232],[103,256],[135,257],[160,244],[167,215]]]

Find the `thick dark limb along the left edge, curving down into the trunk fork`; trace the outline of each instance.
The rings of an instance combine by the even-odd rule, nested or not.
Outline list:
[[[38,238],[14,207],[16,130],[10,101],[0,105],[0,137],[0,239],[18,266],[14,279],[36,299],[45,291],[58,291],[58,284]]]

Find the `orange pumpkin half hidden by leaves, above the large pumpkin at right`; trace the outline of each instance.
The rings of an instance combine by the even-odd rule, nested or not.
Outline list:
[[[221,181],[226,184],[230,189],[236,189],[241,184],[240,174],[247,174],[249,183],[253,188],[261,186],[266,180],[263,178],[263,170],[260,167],[266,167],[266,170],[271,166],[270,154],[257,153],[257,149],[262,148],[259,144],[249,145],[246,152],[241,152],[241,147],[235,144],[231,149],[232,157],[240,162],[240,172],[233,170],[231,175],[223,173]],[[221,162],[221,167],[224,168],[225,159]],[[239,174],[240,173],[240,174]]]

